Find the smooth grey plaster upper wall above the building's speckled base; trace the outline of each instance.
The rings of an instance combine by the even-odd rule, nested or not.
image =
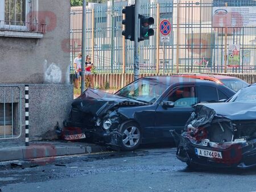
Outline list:
[[[68,83],[69,51],[61,44],[69,39],[70,2],[38,1],[38,8],[39,22],[47,22],[43,38],[0,36],[1,83]]]

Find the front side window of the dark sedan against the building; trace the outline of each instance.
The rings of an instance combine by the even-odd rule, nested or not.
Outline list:
[[[197,103],[196,87],[182,86],[172,91],[164,101],[174,102],[174,107],[191,107]]]

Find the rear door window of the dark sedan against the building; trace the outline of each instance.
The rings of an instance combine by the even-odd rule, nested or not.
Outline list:
[[[216,87],[199,86],[199,102],[217,102],[218,93]]]

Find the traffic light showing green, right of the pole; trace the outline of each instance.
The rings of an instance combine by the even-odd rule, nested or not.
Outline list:
[[[144,15],[139,15],[139,19],[139,41],[143,41],[154,35],[154,30],[150,26],[154,24],[155,20],[152,17]]]

